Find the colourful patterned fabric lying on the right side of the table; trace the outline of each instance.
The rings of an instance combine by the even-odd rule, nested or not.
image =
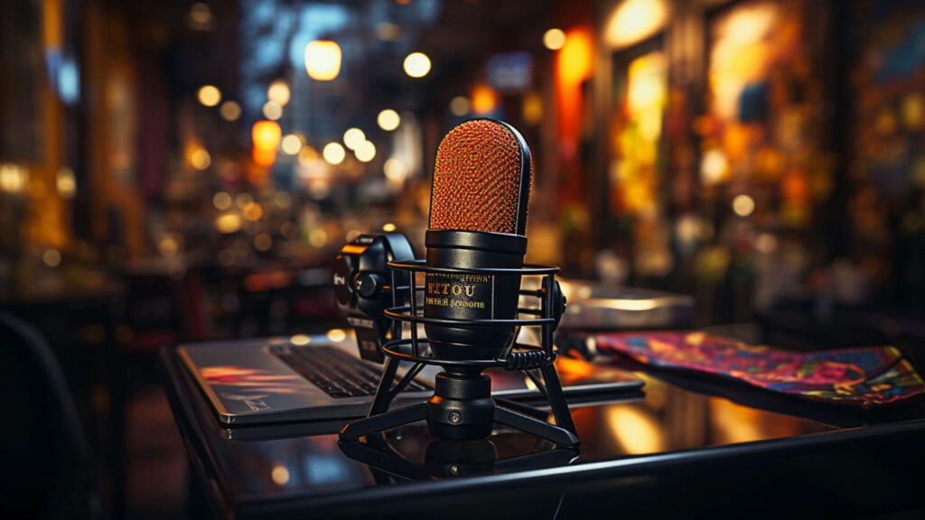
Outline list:
[[[796,353],[704,332],[595,336],[600,353],[643,364],[735,378],[766,390],[870,408],[925,394],[925,382],[891,346]]]

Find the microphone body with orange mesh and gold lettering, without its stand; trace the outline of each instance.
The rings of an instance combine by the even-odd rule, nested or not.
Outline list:
[[[494,119],[472,119],[440,142],[425,235],[426,264],[462,269],[520,268],[533,160],[524,136]],[[513,319],[519,274],[427,273],[424,316]],[[449,359],[499,357],[513,325],[458,328],[425,324],[433,353]]]

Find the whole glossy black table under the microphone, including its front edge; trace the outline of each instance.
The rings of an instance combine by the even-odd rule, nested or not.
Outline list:
[[[466,467],[459,477],[424,471],[423,480],[406,480],[351,459],[333,433],[306,435],[290,427],[274,438],[260,429],[229,431],[217,423],[174,351],[162,358],[192,478],[219,517],[925,515],[920,406],[857,415],[766,402],[765,392],[746,388],[718,390],[675,376],[668,377],[671,384],[664,375],[644,376],[644,400],[573,408],[582,446],[571,464],[571,456],[553,457],[553,465],[540,457],[538,467],[531,466],[525,455],[541,451],[536,440],[500,433],[492,438],[494,448],[500,458],[511,455],[513,464],[476,468],[487,475],[469,476]],[[705,392],[764,408],[793,405],[796,413],[818,415],[828,424]],[[321,432],[339,427],[315,426]],[[388,441],[413,466],[434,439],[422,426],[392,433]]]

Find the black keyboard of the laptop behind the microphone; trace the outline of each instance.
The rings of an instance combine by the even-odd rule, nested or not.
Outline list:
[[[331,397],[363,397],[376,394],[382,369],[329,345],[272,347],[286,365]],[[401,378],[395,378],[398,382]],[[402,391],[430,390],[412,380]]]

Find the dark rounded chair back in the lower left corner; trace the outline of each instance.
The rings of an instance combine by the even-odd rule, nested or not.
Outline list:
[[[0,518],[97,518],[90,451],[42,336],[0,312]]]

